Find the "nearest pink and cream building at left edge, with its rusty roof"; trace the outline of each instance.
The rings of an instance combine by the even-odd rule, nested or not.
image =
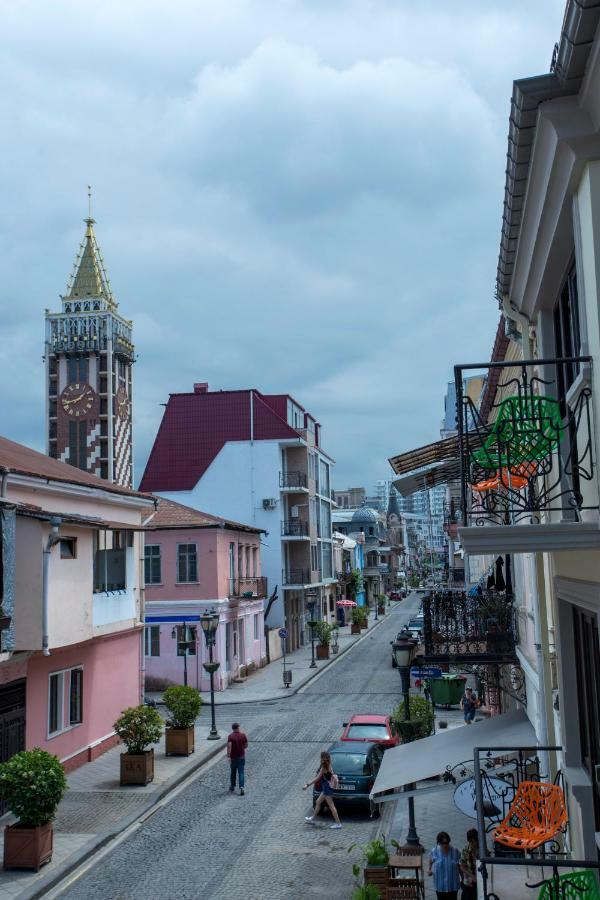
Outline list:
[[[0,438],[0,761],[67,768],[117,742],[141,698],[147,494]]]

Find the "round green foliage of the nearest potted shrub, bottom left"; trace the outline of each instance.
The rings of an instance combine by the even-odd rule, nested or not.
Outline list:
[[[66,788],[58,757],[39,747],[15,753],[0,765],[0,796],[24,828],[50,822]]]

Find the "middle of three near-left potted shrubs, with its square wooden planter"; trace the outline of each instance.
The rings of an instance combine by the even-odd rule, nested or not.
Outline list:
[[[154,749],[150,744],[160,740],[163,721],[151,706],[124,709],[114,729],[127,748],[121,753],[121,784],[148,784],[154,780]]]

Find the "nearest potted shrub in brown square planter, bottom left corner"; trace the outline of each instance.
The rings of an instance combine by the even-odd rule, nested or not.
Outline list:
[[[52,820],[67,787],[60,760],[45,750],[22,750],[0,766],[0,795],[18,818],[4,829],[4,868],[35,869],[50,862]]]

